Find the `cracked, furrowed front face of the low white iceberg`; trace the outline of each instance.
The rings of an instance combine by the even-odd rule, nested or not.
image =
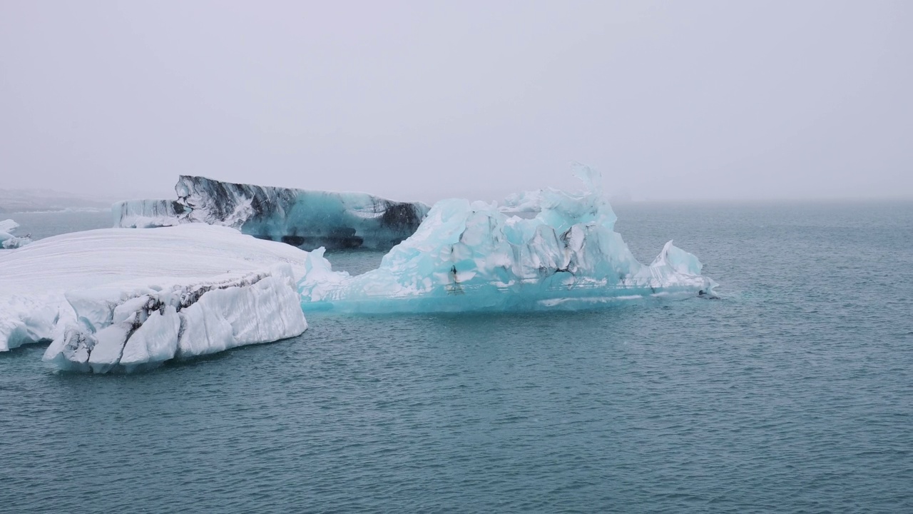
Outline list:
[[[308,327],[289,264],[269,272],[151,284],[110,284],[65,294],[76,315],[44,359],[105,373],[298,336]]]

